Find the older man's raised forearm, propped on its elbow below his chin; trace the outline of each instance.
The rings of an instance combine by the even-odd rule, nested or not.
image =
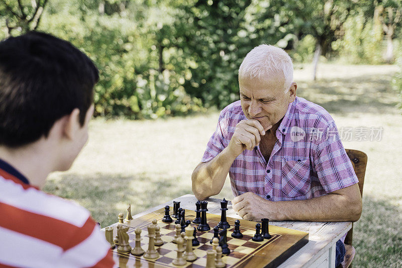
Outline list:
[[[229,153],[228,147],[223,149],[211,161],[200,163],[192,172],[192,192],[198,200],[218,195],[228,175],[229,169],[236,159]]]

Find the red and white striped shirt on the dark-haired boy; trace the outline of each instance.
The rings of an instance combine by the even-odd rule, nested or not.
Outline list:
[[[89,211],[0,159],[0,267],[112,267],[109,249]]]

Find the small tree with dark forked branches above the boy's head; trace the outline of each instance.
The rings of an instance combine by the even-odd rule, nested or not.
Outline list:
[[[0,2],[3,3],[0,5],[0,15],[6,18],[7,36],[11,36],[14,29],[22,34],[36,30],[48,0]]]

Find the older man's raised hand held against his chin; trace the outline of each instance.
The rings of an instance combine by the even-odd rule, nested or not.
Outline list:
[[[246,149],[252,150],[260,143],[261,135],[265,135],[265,131],[258,120],[249,119],[240,121],[236,125],[235,132],[228,146],[231,154],[237,157]]]

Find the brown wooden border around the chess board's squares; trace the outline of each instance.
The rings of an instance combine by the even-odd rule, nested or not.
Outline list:
[[[172,210],[172,207],[170,207],[170,209]],[[150,213],[143,215],[142,217],[136,218],[134,220],[125,221],[125,223],[123,225],[130,228],[130,230],[127,233],[131,234],[134,232],[135,228],[137,228],[137,227],[139,227],[140,229],[144,229],[145,227],[150,225],[152,219],[157,219],[158,223],[161,222],[161,219],[163,218],[163,216],[164,216],[164,208],[156,210],[154,212],[150,212]],[[191,219],[191,221],[192,221],[195,218],[195,212],[186,210],[185,218]],[[236,219],[228,217],[227,220],[228,220],[229,224],[231,225],[231,229],[232,229],[234,227],[234,221]],[[220,221],[220,216],[207,213],[207,221],[210,224],[214,223],[217,225]],[[136,224],[138,222],[140,224]],[[165,224],[165,223],[163,223],[163,224]],[[170,223],[170,224],[174,224],[174,221],[173,221],[173,223]],[[255,231],[256,222],[240,220],[240,224],[241,224],[242,229]],[[212,229],[213,229],[213,226],[211,227],[211,230]],[[211,230],[209,232],[211,232]],[[293,237],[293,238],[296,238],[296,241],[294,241],[294,243],[291,244],[290,247],[288,247],[285,251],[280,252],[279,255],[277,255],[274,259],[271,259],[269,261],[269,256],[267,254],[269,254],[270,252],[269,252],[269,250],[264,250],[264,249],[267,249],[267,247],[270,244],[274,244],[276,241],[278,241],[279,238],[281,238],[282,236],[285,236],[287,234],[286,231],[290,231],[290,233],[295,234],[297,236],[297,238],[296,237]],[[207,232],[197,231],[197,233],[207,233]],[[250,266],[254,265],[255,267],[276,267],[276,266],[280,265],[282,262],[284,262],[292,254],[294,254],[297,250],[299,250],[304,245],[306,245],[309,241],[309,239],[308,239],[309,234],[307,232],[287,229],[287,228],[283,228],[283,227],[277,227],[274,225],[269,225],[269,233],[273,236],[272,238],[264,241],[264,243],[261,243],[251,253],[249,253],[248,255],[246,255],[242,258],[239,258],[237,262],[235,262],[233,264],[229,264],[229,265],[227,265],[227,267],[228,268],[229,267],[246,267],[249,265]],[[284,233],[284,234],[281,234],[281,233]],[[232,239],[243,240],[241,238],[232,238]],[[288,240],[294,240],[294,239],[291,239],[291,237],[287,237],[285,240],[287,241],[287,243],[289,243],[290,241],[288,241]],[[280,241],[279,241],[279,243],[280,243]],[[283,246],[281,246],[279,244],[276,246],[283,248]],[[171,251],[175,251],[175,249],[172,249]],[[135,256],[135,255],[132,255],[130,252],[128,252],[128,253],[118,252],[116,249],[113,250],[113,254],[127,258],[127,262],[130,259],[132,259],[134,261],[140,261],[141,263],[144,263],[144,264],[145,263],[149,263],[149,264],[153,263],[154,265],[151,265],[151,266],[154,266],[154,267],[158,267],[158,266],[160,266],[160,267],[177,267],[171,263],[166,264],[164,262],[160,262],[160,261],[158,261],[158,259],[144,259],[142,256]],[[204,258],[204,257],[206,257],[206,256],[203,256],[200,258]],[[269,261],[269,263],[267,261]],[[182,267],[191,267],[191,264],[192,263],[184,265]]]

